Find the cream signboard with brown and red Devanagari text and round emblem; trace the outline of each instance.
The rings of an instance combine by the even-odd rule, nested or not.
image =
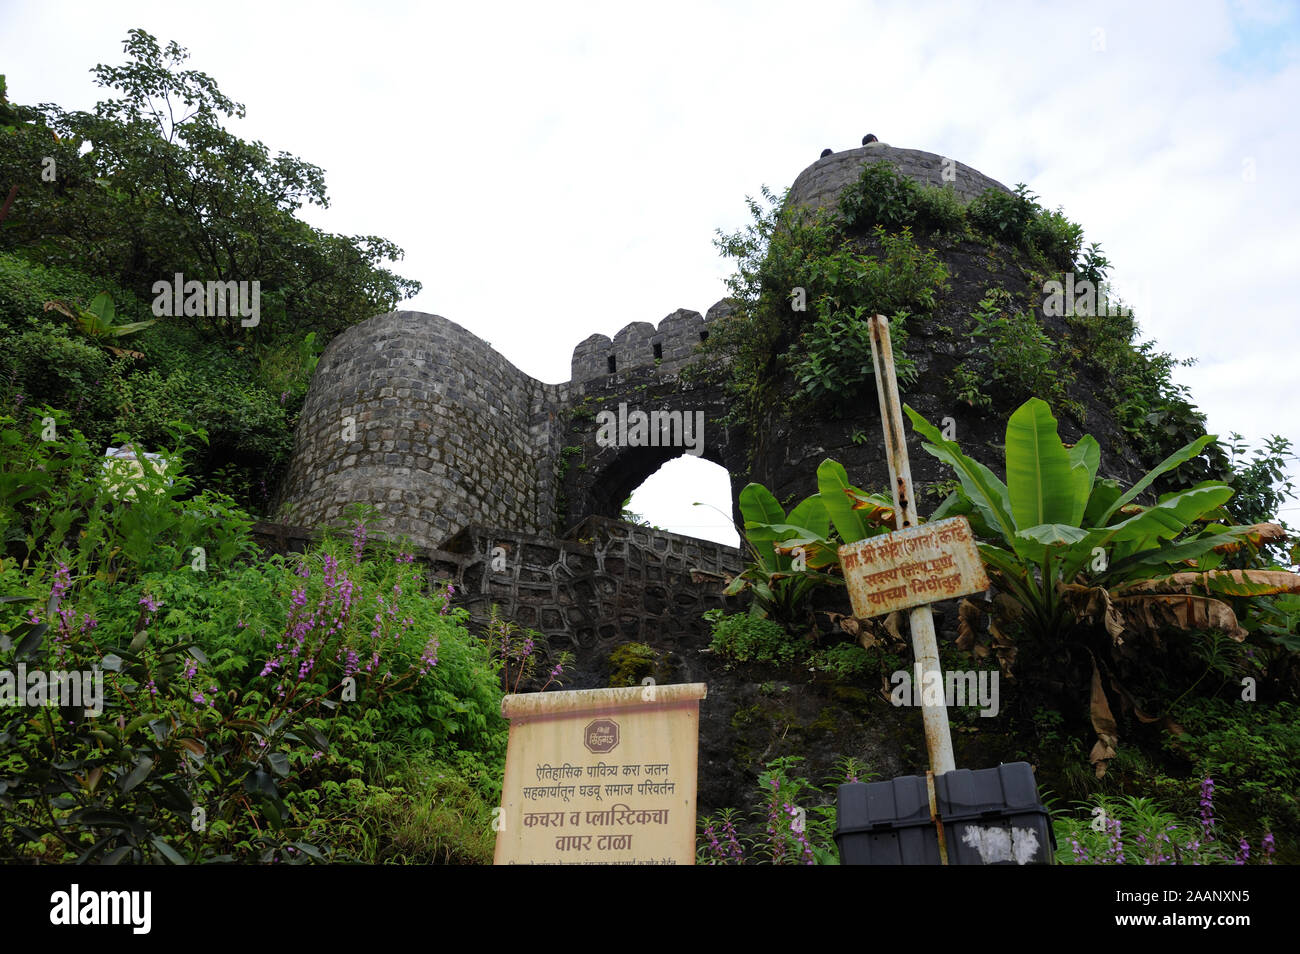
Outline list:
[[[702,682],[507,695],[497,864],[694,864]]]

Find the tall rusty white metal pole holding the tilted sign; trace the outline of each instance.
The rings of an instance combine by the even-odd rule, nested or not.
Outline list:
[[[876,394],[880,396],[880,421],[885,430],[885,456],[889,460],[889,487],[894,502],[894,529],[915,526],[916,503],[911,489],[911,465],[907,463],[907,441],[902,432],[902,402],[898,399],[898,380],[894,377],[893,347],[889,344],[889,321],[881,315],[868,318],[871,329],[871,357],[876,365]],[[922,691],[920,716],[926,725],[926,751],[930,769],[935,775],[957,768],[953,760],[953,737],[948,729],[948,706],[944,701],[944,671],[939,664],[939,641],[935,638],[935,617],[930,606],[918,606],[910,613],[911,651],[916,669],[926,681],[936,680],[940,686],[939,704],[926,704]],[[932,676],[928,673],[933,673]],[[914,697],[915,698],[915,697]]]

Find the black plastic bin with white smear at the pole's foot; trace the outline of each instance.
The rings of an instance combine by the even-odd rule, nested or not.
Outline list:
[[[1053,864],[1056,834],[1028,762],[935,776],[949,864]],[[841,864],[940,864],[926,776],[840,786]]]

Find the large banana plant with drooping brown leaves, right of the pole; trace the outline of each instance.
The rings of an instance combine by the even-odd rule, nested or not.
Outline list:
[[[963,600],[958,645],[972,647],[975,624],[987,615],[1004,671],[1009,672],[1015,659],[1010,634],[1017,629],[1049,649],[1060,649],[1079,624],[1102,625],[1113,646],[1165,626],[1222,629],[1242,641],[1245,630],[1232,607],[1218,597],[1300,591],[1300,576],[1294,573],[1217,569],[1225,554],[1271,535],[1262,529],[1268,525],[1214,522],[1223,519],[1222,506],[1232,495],[1222,481],[1204,481],[1152,504],[1136,503],[1161,474],[1195,458],[1213,435],[1175,451],[1121,491],[1115,481],[1097,478],[1101,455],[1096,439],[1084,435],[1067,447],[1050,408],[1031,398],[1006,425],[1004,483],[913,408],[904,409],[926,438],[922,447],[952,467],[961,482],[931,520],[967,516],[989,580],[1000,591],[992,602]],[[1092,647],[1087,651],[1097,730],[1091,760],[1101,777],[1115,754],[1118,729],[1097,654]],[[1131,701],[1113,675],[1110,684],[1121,698]],[[1138,715],[1156,720],[1140,711]]]

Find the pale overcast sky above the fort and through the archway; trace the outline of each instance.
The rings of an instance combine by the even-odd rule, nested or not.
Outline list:
[[[1143,333],[1199,360],[1210,430],[1300,443],[1295,3],[0,0],[10,100],[92,108],[136,26],[247,107],[235,133],[325,169],[308,221],[406,250],[403,308],[542,381],[594,331],[707,309],[715,229],[871,131],[1063,207]],[[673,464],[633,509],[733,538],[690,507],[729,509],[720,469]]]

